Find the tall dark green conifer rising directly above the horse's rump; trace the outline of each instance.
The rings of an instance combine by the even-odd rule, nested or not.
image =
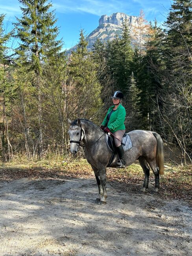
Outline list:
[[[161,108],[162,102],[157,95],[161,93],[161,76],[164,72],[165,63],[163,57],[163,42],[164,33],[161,28],[157,26],[157,20],[154,25],[150,23],[149,38],[146,43],[146,54],[142,59],[144,67],[144,87],[142,90],[146,91],[146,116],[148,116],[148,129],[153,129],[161,132],[159,127],[158,108]],[[145,89],[146,88],[146,89]],[[158,102],[157,102],[158,101]]]

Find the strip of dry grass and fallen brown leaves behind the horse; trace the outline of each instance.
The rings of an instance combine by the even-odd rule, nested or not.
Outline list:
[[[179,166],[166,164],[161,176],[160,195],[164,198],[192,200],[192,165]],[[87,160],[57,157],[51,160],[12,161],[0,165],[0,180],[94,178]],[[124,183],[127,190],[138,191],[144,180],[144,173],[138,163],[126,169],[107,169],[107,180]],[[154,175],[150,173],[149,193],[154,186]]]

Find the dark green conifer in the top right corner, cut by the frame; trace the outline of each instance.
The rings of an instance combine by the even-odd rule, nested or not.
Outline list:
[[[192,67],[192,2],[174,0],[170,8],[166,26],[167,67],[178,74],[191,75]]]

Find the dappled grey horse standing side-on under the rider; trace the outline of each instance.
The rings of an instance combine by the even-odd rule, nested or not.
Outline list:
[[[107,137],[100,127],[87,119],[70,121],[68,134],[70,136],[70,152],[76,154],[79,144],[83,141],[85,158],[91,165],[99,188],[95,202],[106,204],[106,167],[116,167],[117,155],[108,166],[112,152],[107,146]],[[150,167],[155,175],[155,192],[158,192],[159,174],[164,173],[164,152],[161,136],[156,132],[133,130],[128,132],[133,147],[125,151],[126,166],[138,160],[145,174],[142,191],[148,188]]]

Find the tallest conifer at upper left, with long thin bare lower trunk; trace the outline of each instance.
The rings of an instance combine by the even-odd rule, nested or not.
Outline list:
[[[20,39],[20,46],[16,50],[18,65],[25,65],[27,70],[34,72],[33,86],[37,89],[39,151],[43,155],[43,127],[42,127],[42,67],[43,61],[61,50],[61,41],[57,41],[59,30],[55,23],[54,11],[49,11],[51,3],[47,0],[19,0],[22,10],[21,19],[17,18],[15,28],[16,37]]]

